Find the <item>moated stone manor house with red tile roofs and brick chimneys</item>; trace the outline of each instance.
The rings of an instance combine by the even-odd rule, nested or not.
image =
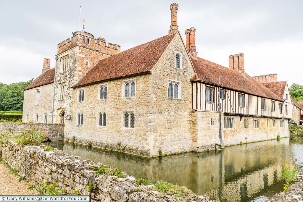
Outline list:
[[[84,31],[60,42],[55,68],[44,58],[24,89],[23,121],[64,123],[65,141],[147,157],[288,137],[287,84],[277,94],[247,75],[243,53],[229,68],[198,57],[195,28],[184,41],[170,10],[168,35],[123,52]]]

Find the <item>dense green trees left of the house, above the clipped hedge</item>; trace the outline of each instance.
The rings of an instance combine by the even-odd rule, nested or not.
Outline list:
[[[32,83],[33,80],[9,85],[0,83],[0,110],[22,111],[23,89]]]

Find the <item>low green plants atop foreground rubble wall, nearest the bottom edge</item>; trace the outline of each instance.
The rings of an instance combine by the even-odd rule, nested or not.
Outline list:
[[[185,186],[181,187],[162,180],[156,182],[155,189],[165,194],[174,195],[175,197],[186,197],[188,195],[194,194]]]

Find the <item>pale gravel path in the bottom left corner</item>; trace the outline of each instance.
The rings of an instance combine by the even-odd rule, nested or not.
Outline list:
[[[28,190],[28,184],[24,180],[18,182],[19,177],[0,164],[0,195],[39,195],[37,190]]]

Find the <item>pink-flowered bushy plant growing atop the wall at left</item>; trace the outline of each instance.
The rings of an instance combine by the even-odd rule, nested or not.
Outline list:
[[[19,135],[22,146],[24,145],[40,145],[41,142],[46,141],[46,132],[42,128],[35,128],[30,126],[28,129],[24,129]]]

